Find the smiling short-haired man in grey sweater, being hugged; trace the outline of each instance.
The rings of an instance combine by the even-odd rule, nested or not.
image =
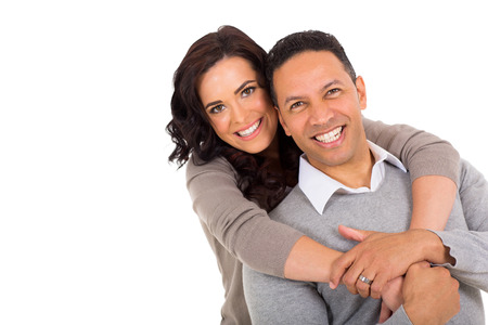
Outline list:
[[[350,250],[354,244],[337,233],[339,224],[403,233],[373,234],[346,253],[337,263],[339,268],[358,260],[344,277],[347,287],[335,288],[333,284],[331,287],[335,289],[331,289],[326,284],[292,282],[244,268],[246,302],[253,323],[376,323],[381,301],[347,290],[357,289],[363,297],[372,292],[370,285],[374,285],[375,274],[370,269],[374,265],[368,264],[369,259],[363,258],[368,253],[361,247],[383,240],[401,256],[390,266],[396,272],[409,270],[404,302],[388,323],[436,324],[452,316],[453,313],[447,312],[445,316],[449,315],[442,318],[439,310],[435,313],[436,307],[431,304],[435,299],[422,301],[431,294],[448,296],[442,294],[444,284],[424,290],[419,285],[429,283],[428,278],[434,277],[431,272],[442,272],[440,268],[419,272],[419,266],[410,266],[427,260],[446,265],[461,281],[461,311],[450,322],[485,324],[480,292],[474,288],[488,288],[488,186],[483,177],[463,164],[460,197],[447,231],[404,232],[411,216],[410,179],[397,159],[365,140],[361,122],[361,110],[367,106],[364,82],[361,77],[356,78],[336,39],[319,31],[284,38],[269,54],[268,78],[280,121],[305,153],[298,186],[270,217],[342,251]],[[419,283],[410,272],[420,276]],[[395,276],[403,273],[394,272]]]

